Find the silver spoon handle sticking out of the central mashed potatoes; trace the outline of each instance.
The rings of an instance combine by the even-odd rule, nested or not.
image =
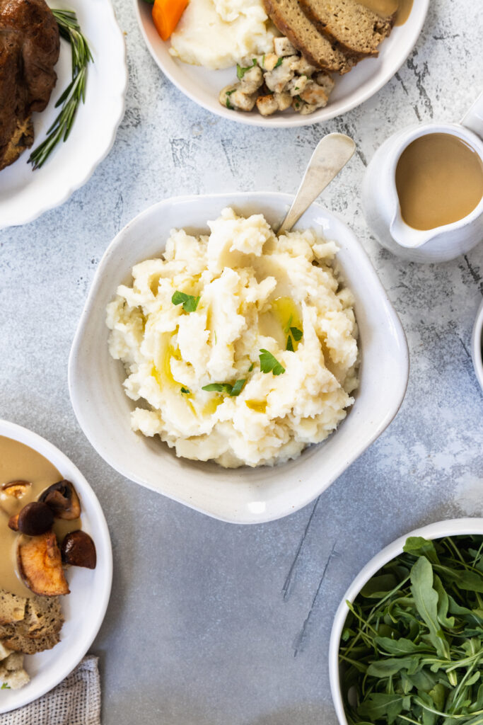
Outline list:
[[[293,204],[277,234],[290,231],[317,196],[324,191],[356,151],[352,138],[329,133],[316,146]]]

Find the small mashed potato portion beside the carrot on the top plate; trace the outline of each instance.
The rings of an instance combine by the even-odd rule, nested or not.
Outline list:
[[[192,65],[229,68],[272,51],[274,34],[261,0],[190,0],[169,52]]]

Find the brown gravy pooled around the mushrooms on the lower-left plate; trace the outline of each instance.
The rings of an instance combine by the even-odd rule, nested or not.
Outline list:
[[[9,515],[20,511],[25,504],[38,499],[39,495],[51,484],[61,481],[63,476],[54,465],[32,448],[14,441],[6,436],[0,436],[0,588],[8,592],[29,597],[30,589],[25,587],[17,571],[17,542],[19,534],[11,531],[7,526]],[[9,481],[29,481],[28,494],[17,500],[6,496],[1,486]],[[7,513],[3,506],[9,510]],[[75,521],[59,521],[54,523],[54,531],[62,542],[69,531],[80,529],[80,519]]]

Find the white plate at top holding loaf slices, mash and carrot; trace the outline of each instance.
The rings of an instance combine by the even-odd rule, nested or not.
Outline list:
[[[329,103],[308,116],[287,110],[273,116],[261,116],[258,111],[236,112],[224,108],[218,101],[219,92],[236,80],[235,68],[209,70],[187,65],[169,55],[169,42],[159,37],[151,18],[151,5],[134,0],[138,23],[148,50],[164,75],[188,98],[203,108],[239,123],[271,128],[311,125],[327,121],[356,108],[374,96],[398,72],[416,45],[426,18],[429,0],[415,0],[413,9],[404,25],[392,30],[380,46],[378,58],[366,59],[343,76],[335,75],[336,85]]]

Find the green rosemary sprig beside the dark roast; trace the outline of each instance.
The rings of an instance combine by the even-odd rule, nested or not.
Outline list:
[[[72,80],[55,107],[62,105],[62,110],[47,131],[47,138],[42,141],[35,151],[30,154],[28,162],[33,170],[40,168],[48,159],[59,141],[67,141],[72,130],[75,113],[80,101],[85,103],[85,80],[87,77],[88,62],[93,62],[91,49],[85,37],[80,32],[77,16],[72,10],[52,10],[59,25],[59,33],[69,41],[72,51]]]

